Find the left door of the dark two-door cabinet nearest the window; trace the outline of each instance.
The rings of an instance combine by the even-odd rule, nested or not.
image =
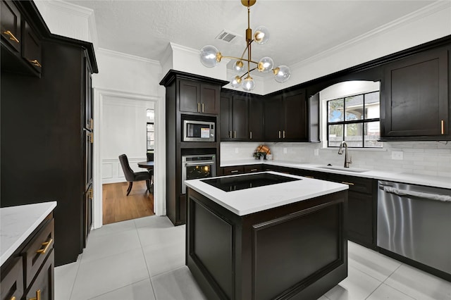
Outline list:
[[[282,112],[283,107],[280,96],[266,99],[264,103],[264,135],[266,141],[278,141],[282,137],[282,128],[280,125]]]

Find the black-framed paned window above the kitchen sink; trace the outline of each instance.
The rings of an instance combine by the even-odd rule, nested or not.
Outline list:
[[[379,92],[327,101],[328,147],[381,148],[379,137]]]

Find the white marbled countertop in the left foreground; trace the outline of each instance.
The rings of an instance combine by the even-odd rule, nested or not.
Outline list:
[[[56,201],[0,208],[0,265],[55,207]]]

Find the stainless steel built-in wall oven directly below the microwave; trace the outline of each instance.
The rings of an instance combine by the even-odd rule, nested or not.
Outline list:
[[[216,155],[182,156],[182,193],[186,193],[185,180],[209,178],[216,176]]]

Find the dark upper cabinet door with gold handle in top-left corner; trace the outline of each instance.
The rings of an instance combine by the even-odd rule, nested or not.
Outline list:
[[[11,1],[1,0],[1,40],[20,52],[22,33],[20,27],[20,12]]]

